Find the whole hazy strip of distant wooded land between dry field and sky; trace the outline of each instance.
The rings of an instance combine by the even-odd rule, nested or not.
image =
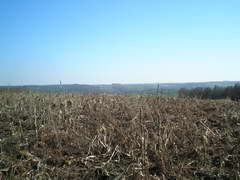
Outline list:
[[[200,83],[149,83],[149,84],[59,84],[59,85],[29,85],[0,86],[3,92],[27,93],[79,93],[79,94],[125,94],[171,97],[193,97],[200,99],[240,99],[239,81],[219,81]]]

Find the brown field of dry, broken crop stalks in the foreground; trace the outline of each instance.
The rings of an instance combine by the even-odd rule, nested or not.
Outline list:
[[[240,103],[3,92],[1,179],[240,179]]]

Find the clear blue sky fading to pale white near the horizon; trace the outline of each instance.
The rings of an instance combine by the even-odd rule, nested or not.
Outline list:
[[[240,80],[239,0],[1,0],[0,85]]]

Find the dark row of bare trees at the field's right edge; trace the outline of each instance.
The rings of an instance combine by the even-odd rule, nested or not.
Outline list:
[[[230,98],[232,100],[240,100],[240,84],[234,86],[219,87],[214,86],[213,88],[193,88],[186,89],[182,88],[178,92],[179,97],[190,97],[199,99],[225,99]]]

